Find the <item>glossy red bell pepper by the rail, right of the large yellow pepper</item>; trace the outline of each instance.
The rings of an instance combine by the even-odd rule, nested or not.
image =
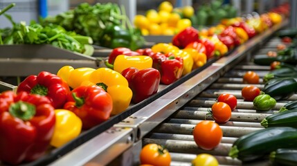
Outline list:
[[[121,73],[129,82],[129,88],[132,89],[132,101],[141,102],[157,93],[161,80],[160,72],[155,68],[126,68]]]

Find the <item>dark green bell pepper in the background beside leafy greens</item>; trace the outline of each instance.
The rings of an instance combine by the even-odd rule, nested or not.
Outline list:
[[[107,48],[129,48],[132,42],[132,35],[129,33],[129,30],[117,25],[107,26],[103,30],[103,34],[100,39],[100,46]]]

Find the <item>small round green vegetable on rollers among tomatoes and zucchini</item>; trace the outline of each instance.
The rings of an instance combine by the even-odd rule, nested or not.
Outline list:
[[[253,106],[257,111],[269,111],[276,106],[276,100],[268,94],[261,94],[255,97]]]

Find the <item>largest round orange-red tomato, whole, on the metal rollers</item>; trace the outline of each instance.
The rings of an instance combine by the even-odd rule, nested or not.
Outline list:
[[[219,145],[223,137],[223,131],[219,124],[210,120],[202,120],[196,124],[192,131],[194,140],[198,147],[211,150]]]

